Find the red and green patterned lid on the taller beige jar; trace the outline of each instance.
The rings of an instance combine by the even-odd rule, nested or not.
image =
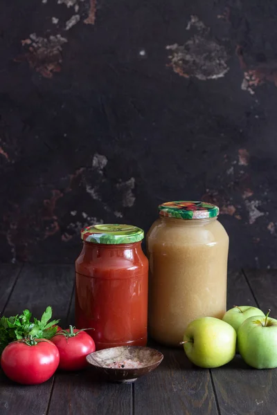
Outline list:
[[[215,218],[219,213],[217,206],[205,202],[175,201],[159,205],[160,216],[175,219],[208,219]]]

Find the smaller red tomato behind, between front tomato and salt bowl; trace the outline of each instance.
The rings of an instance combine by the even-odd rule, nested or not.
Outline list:
[[[85,331],[70,326],[54,335],[51,342],[55,343],[60,353],[59,369],[79,370],[87,367],[86,356],[96,350],[91,336]]]

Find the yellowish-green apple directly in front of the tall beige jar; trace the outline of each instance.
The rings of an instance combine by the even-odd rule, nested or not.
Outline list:
[[[230,324],[215,317],[201,317],[188,324],[184,349],[199,367],[220,367],[235,356],[237,334]]]

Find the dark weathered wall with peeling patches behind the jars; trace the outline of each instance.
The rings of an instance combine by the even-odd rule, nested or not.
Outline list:
[[[96,222],[220,205],[230,265],[276,259],[277,2],[1,0],[1,261]]]

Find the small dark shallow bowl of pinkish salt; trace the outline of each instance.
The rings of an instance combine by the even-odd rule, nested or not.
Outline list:
[[[163,354],[150,347],[121,346],[94,351],[87,356],[93,369],[112,382],[134,382],[156,369]]]

